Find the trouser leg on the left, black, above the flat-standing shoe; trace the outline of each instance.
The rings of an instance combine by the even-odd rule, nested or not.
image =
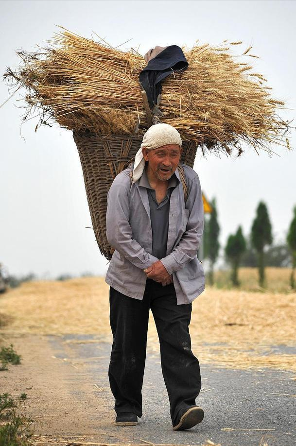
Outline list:
[[[143,300],[138,300],[110,287],[109,300],[113,344],[108,377],[114,409],[116,413],[133,412],[141,417],[149,290],[145,290]]]

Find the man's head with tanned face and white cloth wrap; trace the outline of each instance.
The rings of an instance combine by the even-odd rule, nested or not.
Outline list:
[[[141,150],[153,176],[158,180],[167,181],[180,161],[182,139],[172,125],[155,124],[145,133]]]

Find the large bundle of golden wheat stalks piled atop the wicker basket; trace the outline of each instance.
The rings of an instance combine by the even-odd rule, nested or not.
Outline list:
[[[143,134],[147,121],[139,73],[146,66],[144,58],[133,49],[120,51],[62,30],[48,47],[17,51],[22,64],[4,73],[27,90],[24,119],[37,111],[39,123],[48,124],[51,117],[68,129],[97,134],[134,135],[139,123],[138,134]],[[189,68],[163,82],[161,121],[202,150],[230,154],[235,149],[241,154],[242,143],[256,151],[271,152],[271,143],[289,148],[284,134],[290,127],[276,114],[284,103],[270,96],[272,88],[260,73],[252,72],[250,63],[258,57],[251,54],[252,47],[232,55],[231,49],[242,42],[198,42],[192,49],[182,48]]]

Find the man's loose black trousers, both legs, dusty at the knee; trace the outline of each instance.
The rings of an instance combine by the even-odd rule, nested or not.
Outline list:
[[[174,284],[146,281],[143,300],[110,287],[113,344],[108,370],[115,412],[142,416],[142,384],[146,360],[149,309],[160,343],[160,360],[173,425],[180,409],[195,405],[201,389],[200,367],[191,350],[192,304],[177,305]]]

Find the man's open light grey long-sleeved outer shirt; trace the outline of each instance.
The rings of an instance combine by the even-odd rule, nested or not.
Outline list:
[[[180,175],[172,190],[166,255],[152,254],[152,224],[147,188],[131,185],[130,168],[119,173],[107,194],[106,235],[115,248],[105,282],[126,296],[142,300],[147,276],[143,272],[160,260],[173,274],[177,305],[191,303],[205,289],[205,274],[197,258],[204,228],[204,207],[199,178],[186,164],[186,206]],[[131,166],[131,169],[133,165]]]

